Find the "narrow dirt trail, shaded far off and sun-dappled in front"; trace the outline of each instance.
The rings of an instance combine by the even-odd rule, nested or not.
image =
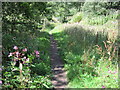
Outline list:
[[[66,71],[64,70],[64,65],[62,60],[58,55],[57,43],[53,36],[50,35],[51,41],[51,69],[53,73],[52,84],[54,88],[67,88],[67,77]]]

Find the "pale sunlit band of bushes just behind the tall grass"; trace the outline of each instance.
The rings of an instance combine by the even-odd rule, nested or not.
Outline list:
[[[109,15],[95,15],[85,12],[78,12],[73,15],[69,23],[82,22],[83,24],[88,25],[103,25],[110,20],[120,19],[120,14],[118,11],[114,11]]]

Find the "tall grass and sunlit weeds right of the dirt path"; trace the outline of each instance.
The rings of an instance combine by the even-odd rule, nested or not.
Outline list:
[[[82,25],[63,24],[50,31],[58,41],[68,86],[118,88],[116,28]]]

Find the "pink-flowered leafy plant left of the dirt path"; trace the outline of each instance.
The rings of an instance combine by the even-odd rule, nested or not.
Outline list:
[[[28,54],[28,49],[20,49],[14,46],[14,52],[10,52],[8,57],[10,58],[10,65],[4,73],[4,85],[5,87],[27,87],[31,82],[30,77],[30,65],[34,59],[40,57],[39,51],[34,50],[34,53]]]

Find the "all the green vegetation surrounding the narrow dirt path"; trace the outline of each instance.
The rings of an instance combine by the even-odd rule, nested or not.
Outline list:
[[[3,88],[52,88],[50,34],[69,88],[119,88],[119,2],[2,3]]]

